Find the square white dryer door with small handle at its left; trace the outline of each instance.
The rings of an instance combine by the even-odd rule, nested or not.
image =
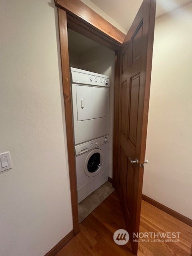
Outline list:
[[[108,88],[76,85],[78,121],[106,117]]]

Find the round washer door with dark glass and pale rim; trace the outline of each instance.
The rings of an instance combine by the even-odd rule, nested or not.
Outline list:
[[[94,177],[102,170],[104,155],[102,150],[96,148],[92,150],[86,157],[84,164],[85,174],[89,177]]]

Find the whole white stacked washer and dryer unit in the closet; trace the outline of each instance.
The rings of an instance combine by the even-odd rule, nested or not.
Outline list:
[[[109,77],[70,68],[78,203],[108,180]]]

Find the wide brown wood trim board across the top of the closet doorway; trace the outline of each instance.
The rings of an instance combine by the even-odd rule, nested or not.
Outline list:
[[[63,8],[71,15],[78,16],[84,20],[86,24],[89,24],[92,28],[100,30],[104,34],[120,42],[120,44],[123,43],[125,35],[80,0],[55,0],[55,5],[59,8]]]

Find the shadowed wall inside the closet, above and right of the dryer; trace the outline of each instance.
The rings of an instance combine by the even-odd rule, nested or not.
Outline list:
[[[80,68],[104,74],[110,78],[110,103],[109,103],[109,177],[112,178],[113,166],[113,114],[114,114],[114,51],[99,45],[83,54],[80,54]]]

